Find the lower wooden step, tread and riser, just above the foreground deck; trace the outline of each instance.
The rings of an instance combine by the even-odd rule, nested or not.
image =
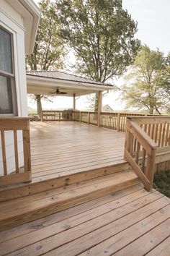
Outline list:
[[[0,230],[48,216],[138,183],[138,176],[133,171],[120,171],[79,184],[1,202]]]

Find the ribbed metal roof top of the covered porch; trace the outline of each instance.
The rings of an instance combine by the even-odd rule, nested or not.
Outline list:
[[[58,70],[55,70],[55,71],[27,71],[26,74],[32,75],[32,76],[37,76],[37,77],[48,77],[48,78],[53,78],[53,79],[58,79],[58,80],[67,80],[67,81],[73,81],[73,82],[85,82],[85,83],[94,84],[94,85],[105,85],[102,82],[96,82],[94,80],[90,80],[85,77],[79,77],[78,75],[68,74],[66,72],[61,72]],[[107,86],[112,86],[112,85],[107,85]]]

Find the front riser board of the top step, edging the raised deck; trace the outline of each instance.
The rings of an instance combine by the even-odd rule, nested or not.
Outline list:
[[[127,171],[131,167],[127,161],[120,161],[114,165],[102,166],[100,168],[91,168],[89,171],[75,171],[72,174],[64,172],[63,175],[50,176],[50,179],[35,180],[30,183],[14,184],[9,186],[0,186],[0,202],[16,199],[27,195],[34,195],[39,192],[45,192],[50,189],[57,189],[79,182],[85,182],[90,179],[95,179],[100,176],[114,174],[118,171]]]

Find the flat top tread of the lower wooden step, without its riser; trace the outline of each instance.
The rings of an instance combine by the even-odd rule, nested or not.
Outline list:
[[[15,200],[1,202],[0,221],[48,208],[49,205],[55,205],[55,208],[58,205],[58,210],[60,210],[61,202],[63,202],[62,207],[64,207],[64,204],[65,206],[67,203],[69,205],[71,200],[80,200],[80,197],[83,196],[88,200],[91,193],[104,189],[109,190],[110,187],[119,187],[122,183],[128,183],[133,180],[138,180],[138,176],[133,171],[120,171],[115,174],[81,182],[80,184],[72,184],[48,192],[40,192],[36,195],[28,195]]]

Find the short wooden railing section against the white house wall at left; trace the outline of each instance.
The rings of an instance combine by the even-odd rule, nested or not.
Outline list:
[[[21,141],[18,140],[18,132],[22,132]],[[10,145],[6,143],[6,133],[9,132],[13,137]],[[29,182],[31,180],[31,157],[30,157],[30,119],[22,117],[1,118],[0,119],[1,134],[1,158],[2,158],[2,175],[0,176],[0,184],[13,184],[18,182]],[[9,138],[9,137],[7,137]],[[24,166],[19,166],[19,144],[22,143]],[[14,170],[9,174],[6,161],[6,148],[12,147],[14,151]],[[8,150],[9,152],[9,150]]]

